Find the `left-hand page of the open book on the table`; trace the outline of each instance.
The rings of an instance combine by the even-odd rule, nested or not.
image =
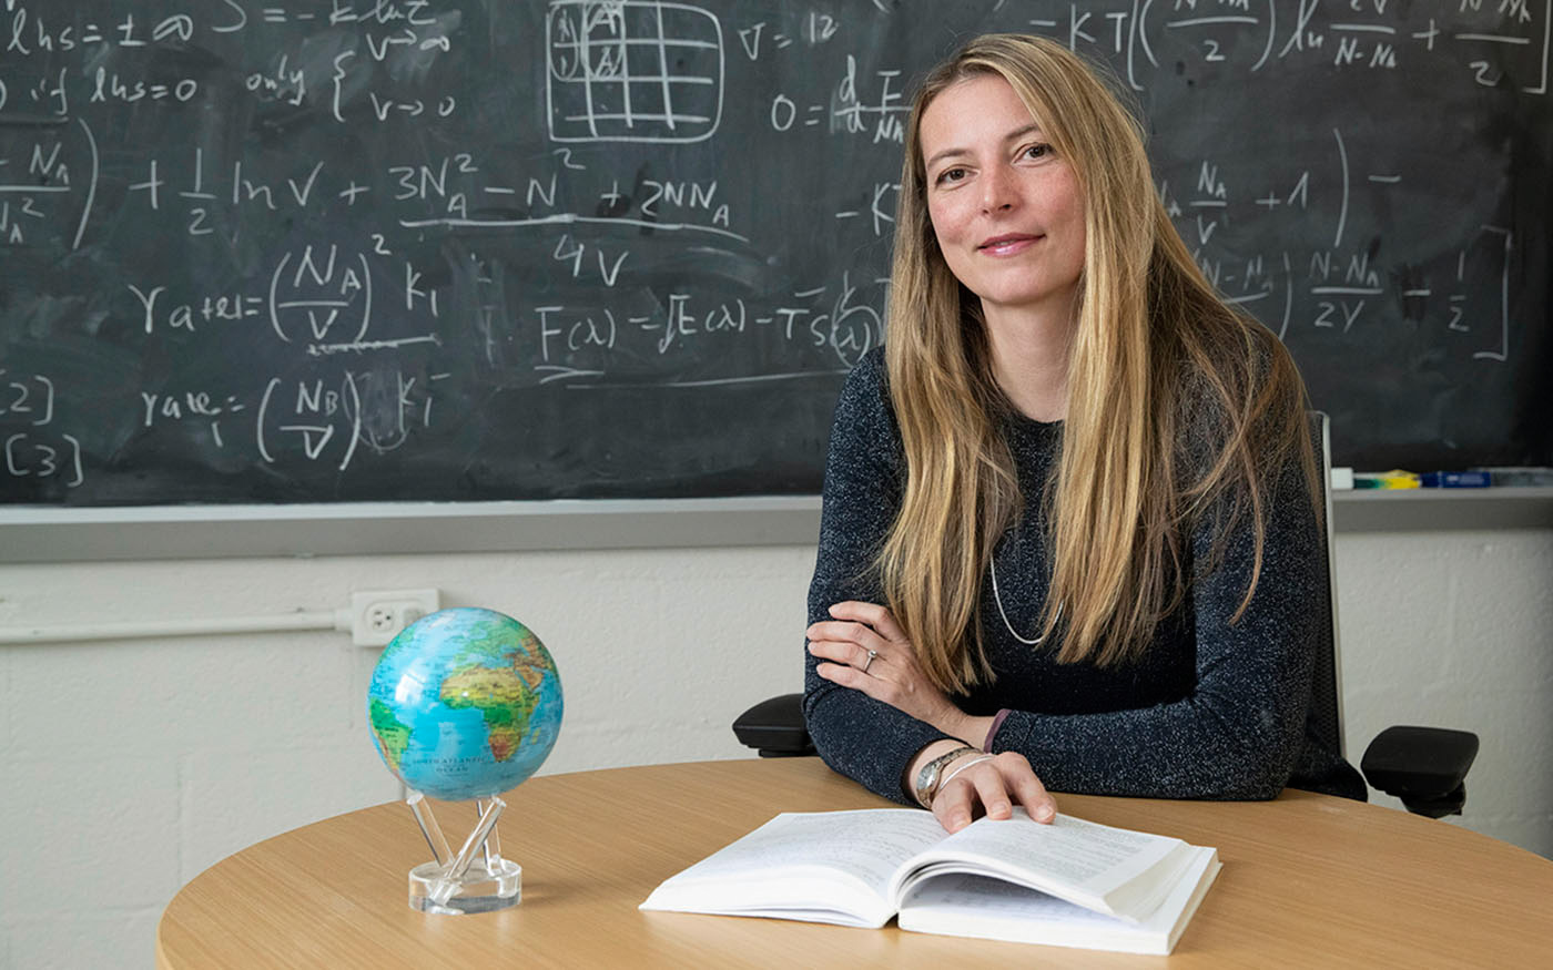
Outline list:
[[[943,837],[915,809],[783,813],[669,877],[641,906],[884,925],[896,869]]]

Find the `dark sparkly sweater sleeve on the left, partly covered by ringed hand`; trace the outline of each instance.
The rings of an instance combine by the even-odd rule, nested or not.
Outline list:
[[[829,607],[846,599],[884,602],[874,556],[895,520],[902,483],[901,438],[882,355],[874,351],[853,369],[836,405],[809,622],[829,619]],[[902,788],[902,776],[912,757],[943,733],[860,691],[823,680],[817,666],[806,649],[803,714],[820,757],[870,792],[915,804]]]

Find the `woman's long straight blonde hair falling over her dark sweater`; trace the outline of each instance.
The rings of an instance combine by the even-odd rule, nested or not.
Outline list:
[[[1269,483],[1291,461],[1312,497],[1317,481],[1294,360],[1197,268],[1154,189],[1134,115],[1056,42],[972,40],[929,74],[907,126],[885,331],[907,481],[877,559],[887,605],[919,664],[957,692],[991,680],[981,577],[1023,512],[997,430],[1011,405],[992,374],[980,303],[950,273],[926,200],[922,112],[980,74],[1008,81],[1084,194],[1068,408],[1045,495],[1053,553],[1041,629],[1059,633],[1058,660],[1135,658],[1182,604],[1191,580],[1183,546],[1210,509],[1221,537],[1244,515],[1255,523],[1238,619],[1261,574]],[[1210,560],[1221,553],[1222,542]]]

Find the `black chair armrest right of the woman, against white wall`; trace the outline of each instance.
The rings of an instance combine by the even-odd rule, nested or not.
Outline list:
[[[1466,771],[1477,757],[1477,734],[1449,728],[1391,726],[1376,736],[1359,762],[1365,779],[1409,812],[1440,818],[1466,802]]]

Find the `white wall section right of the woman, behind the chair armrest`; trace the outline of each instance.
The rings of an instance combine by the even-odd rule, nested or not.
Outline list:
[[[1337,577],[1350,760],[1390,725],[1474,731],[1454,821],[1553,858],[1553,529],[1339,534]]]

